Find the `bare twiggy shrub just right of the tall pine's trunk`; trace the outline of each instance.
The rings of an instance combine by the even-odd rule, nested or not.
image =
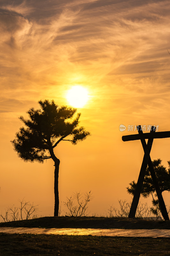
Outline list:
[[[68,212],[65,212],[65,216],[87,216],[89,214],[87,204],[92,199],[93,196],[91,194],[91,191],[89,193],[86,192],[84,194],[80,194],[80,192],[73,193],[73,196],[70,196],[70,198],[67,197],[67,201],[63,202],[63,204],[69,210]],[[75,204],[75,202],[77,204]]]

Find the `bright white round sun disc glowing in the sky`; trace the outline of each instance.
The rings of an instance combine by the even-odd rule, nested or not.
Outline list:
[[[82,108],[89,100],[88,90],[80,85],[74,85],[66,95],[69,104],[75,108]]]

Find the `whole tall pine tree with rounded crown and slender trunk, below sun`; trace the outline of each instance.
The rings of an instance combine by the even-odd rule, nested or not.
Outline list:
[[[19,119],[26,128],[21,127],[16,133],[16,139],[11,143],[18,156],[24,161],[43,163],[45,159],[54,161],[54,216],[59,211],[58,177],[60,160],[54,154],[54,148],[60,141],[70,141],[76,145],[90,135],[84,127],[79,127],[81,113],[73,119],[76,108],[58,105],[52,100],[39,100],[40,109],[30,108],[29,119],[20,116]]]

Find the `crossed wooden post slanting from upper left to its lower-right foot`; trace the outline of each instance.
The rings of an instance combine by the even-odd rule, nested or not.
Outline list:
[[[138,133],[143,134],[140,125],[138,125]],[[145,152],[145,149],[147,147],[145,139],[141,139],[141,143],[142,143],[142,147],[143,147],[144,152]],[[151,177],[152,177],[153,185],[154,185],[155,190],[156,190],[156,194],[158,196],[160,211],[162,213],[162,216],[163,216],[164,220],[169,220],[169,216],[168,216],[168,213],[167,213],[167,210],[166,210],[166,205],[165,205],[165,202],[164,202],[164,199],[163,199],[163,196],[162,196],[162,192],[159,188],[159,183],[158,183],[158,180],[156,178],[156,174],[155,174],[153,164],[152,164],[152,160],[151,160],[150,156],[149,156],[149,160],[148,160],[148,167],[149,167],[149,171],[151,173]]]

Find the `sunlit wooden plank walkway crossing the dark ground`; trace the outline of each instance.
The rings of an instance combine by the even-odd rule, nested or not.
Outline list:
[[[3,233],[78,236],[170,237],[170,229],[0,228]]]

